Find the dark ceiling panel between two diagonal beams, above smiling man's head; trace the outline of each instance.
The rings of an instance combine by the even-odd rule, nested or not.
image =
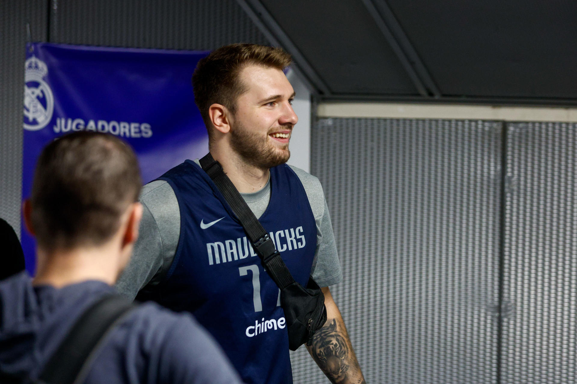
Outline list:
[[[332,93],[418,95],[361,1],[261,3]]]

